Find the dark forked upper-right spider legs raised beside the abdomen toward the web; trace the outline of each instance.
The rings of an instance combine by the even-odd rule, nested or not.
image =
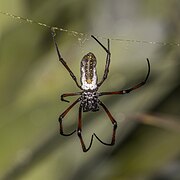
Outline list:
[[[107,56],[106,56],[106,65],[105,65],[105,70],[104,70],[104,75],[102,80],[98,83],[98,87],[100,87],[102,85],[102,83],[106,80],[108,73],[109,73],[109,65],[110,65],[110,57],[111,57],[111,53],[110,53],[110,41],[108,39],[108,49],[93,35],[91,35],[92,38],[94,38],[99,44],[100,46],[107,52]]]

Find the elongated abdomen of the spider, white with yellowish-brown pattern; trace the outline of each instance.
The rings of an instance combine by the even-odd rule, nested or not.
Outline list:
[[[81,60],[81,84],[85,90],[97,88],[96,57],[89,52]]]

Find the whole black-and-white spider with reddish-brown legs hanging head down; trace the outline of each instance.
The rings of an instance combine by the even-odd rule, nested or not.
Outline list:
[[[62,94],[61,95],[61,100],[68,102],[68,100],[64,99],[65,97],[68,96],[76,96],[79,95],[80,97],[75,100],[60,116],[59,116],[59,125],[60,125],[60,134],[63,136],[70,136],[72,134],[74,134],[76,132],[76,130],[74,130],[73,132],[69,133],[69,134],[65,134],[64,130],[63,130],[63,125],[62,125],[62,120],[63,118],[67,115],[67,113],[77,104],[80,103],[79,106],[79,115],[78,115],[78,127],[77,127],[77,135],[80,139],[80,143],[82,146],[82,150],[84,152],[87,152],[92,145],[93,142],[93,138],[94,136],[104,145],[108,145],[108,146],[112,146],[115,144],[115,136],[116,136],[116,129],[117,129],[117,122],[116,120],[113,118],[113,116],[111,115],[111,113],[109,112],[109,110],[107,109],[107,107],[102,103],[102,101],[99,99],[100,96],[104,96],[104,95],[117,95],[117,94],[127,94],[130,93],[131,91],[140,88],[141,86],[143,86],[150,74],[150,63],[149,60],[147,59],[147,65],[148,65],[148,72],[147,75],[145,77],[145,80],[138,83],[137,85],[129,88],[129,89],[125,89],[125,90],[121,90],[121,91],[114,91],[114,92],[98,92],[99,87],[104,83],[104,81],[106,80],[108,73],[109,73],[109,66],[110,66],[110,57],[111,57],[111,53],[110,53],[110,40],[107,40],[107,48],[93,35],[91,35],[91,37],[106,51],[107,56],[106,56],[106,65],[105,65],[105,70],[104,70],[104,75],[101,79],[100,82],[98,82],[98,77],[97,77],[97,72],[96,72],[96,64],[97,64],[97,60],[95,55],[92,52],[89,52],[88,54],[86,54],[82,60],[81,60],[81,65],[80,65],[80,71],[81,71],[81,85],[79,85],[76,76],[74,75],[74,73],[71,71],[71,69],[69,68],[69,66],[66,64],[65,60],[62,58],[57,42],[55,40],[55,31],[52,30],[52,37],[53,37],[53,42],[57,51],[57,55],[59,58],[59,61],[63,64],[63,66],[67,69],[67,71],[69,72],[70,76],[72,77],[72,79],[74,80],[74,82],[76,83],[76,85],[79,87],[79,89],[81,89],[81,92],[75,92],[75,93],[66,93],[66,94]],[[96,112],[99,111],[99,106],[101,106],[105,113],[107,114],[107,116],[109,117],[112,126],[113,126],[113,133],[112,133],[112,138],[110,143],[106,143],[103,142],[95,133],[92,134],[91,136],[91,141],[88,147],[86,147],[83,137],[82,137],[82,112],[88,112],[88,111],[92,111],[92,112]]]

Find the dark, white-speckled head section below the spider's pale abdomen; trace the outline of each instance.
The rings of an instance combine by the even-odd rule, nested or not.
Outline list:
[[[99,110],[98,94],[96,91],[84,91],[81,98],[81,106],[83,107],[83,112]]]

